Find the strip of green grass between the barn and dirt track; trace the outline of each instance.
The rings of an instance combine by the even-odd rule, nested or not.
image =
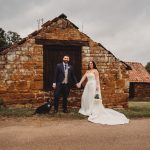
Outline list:
[[[124,113],[128,118],[143,118],[150,117],[150,101],[148,102],[129,102],[128,109],[116,109],[119,112]],[[35,109],[33,108],[0,108],[0,117],[33,117]],[[57,119],[87,119],[78,113],[78,109],[72,109],[69,113],[65,114],[61,111],[57,114],[35,115],[36,117],[46,117],[52,120]]]

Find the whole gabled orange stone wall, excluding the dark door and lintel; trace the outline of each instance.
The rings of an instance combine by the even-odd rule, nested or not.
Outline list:
[[[43,91],[43,46],[35,44],[35,38],[88,42],[89,46],[82,47],[82,73],[87,70],[89,60],[94,60],[100,73],[104,105],[127,107],[127,66],[64,18],[43,26],[37,34],[29,35],[23,44],[0,56],[0,97],[7,104],[34,105],[49,96]],[[80,107],[81,93],[82,90],[71,91],[70,107]]]

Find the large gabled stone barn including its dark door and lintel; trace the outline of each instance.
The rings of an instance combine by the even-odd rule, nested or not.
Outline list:
[[[80,32],[64,14],[0,53],[0,98],[6,104],[44,102],[52,96],[54,70],[64,54],[70,56],[78,80],[87,70],[88,62],[96,62],[106,107],[128,106],[130,67]],[[71,90],[70,107],[80,107],[82,91]]]

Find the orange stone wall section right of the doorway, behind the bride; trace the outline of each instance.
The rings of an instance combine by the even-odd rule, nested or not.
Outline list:
[[[83,50],[84,51],[84,50]],[[90,44],[89,50],[83,53],[82,64],[93,59],[100,73],[103,104],[106,107],[127,107],[128,101],[128,71],[109,51],[99,47],[97,43]],[[84,65],[87,69],[87,65]]]

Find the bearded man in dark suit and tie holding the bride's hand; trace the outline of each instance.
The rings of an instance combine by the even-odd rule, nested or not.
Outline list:
[[[53,88],[54,91],[54,113],[58,112],[58,99],[62,94],[63,97],[63,112],[68,113],[67,110],[67,98],[70,92],[70,88],[73,84],[77,86],[77,79],[74,75],[73,67],[69,65],[69,56],[63,57],[63,62],[57,64]],[[78,87],[78,86],[77,86]]]

